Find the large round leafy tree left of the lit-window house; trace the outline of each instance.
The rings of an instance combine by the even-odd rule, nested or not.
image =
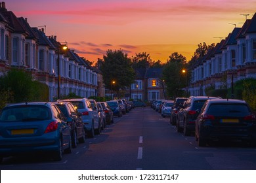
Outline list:
[[[133,84],[135,71],[127,54],[122,50],[108,50],[103,59],[100,71],[106,88],[118,93],[119,89],[125,89]],[[112,84],[113,81],[115,84]]]

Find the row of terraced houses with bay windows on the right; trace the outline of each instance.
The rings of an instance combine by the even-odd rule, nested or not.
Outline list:
[[[206,95],[205,88],[231,88],[237,80],[256,78],[256,13],[191,69],[190,95]]]

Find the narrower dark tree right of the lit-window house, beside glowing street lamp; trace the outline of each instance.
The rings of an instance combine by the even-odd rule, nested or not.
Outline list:
[[[172,99],[184,95],[182,88],[188,83],[188,73],[182,73],[182,69],[187,71],[186,58],[177,52],[169,56],[169,60],[163,67],[167,95]]]

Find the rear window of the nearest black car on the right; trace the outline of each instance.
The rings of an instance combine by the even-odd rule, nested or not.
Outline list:
[[[241,103],[214,103],[211,104],[207,114],[213,116],[246,116],[250,110],[245,104]]]

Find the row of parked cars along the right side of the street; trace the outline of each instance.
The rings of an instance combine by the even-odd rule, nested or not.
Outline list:
[[[163,117],[167,102],[161,101]],[[155,106],[158,103],[160,100]],[[156,107],[152,108],[156,110]],[[256,146],[256,117],[245,101],[205,96],[177,97],[172,101],[168,116],[170,124],[176,125],[179,133],[195,135],[199,146],[213,141],[241,141]]]

